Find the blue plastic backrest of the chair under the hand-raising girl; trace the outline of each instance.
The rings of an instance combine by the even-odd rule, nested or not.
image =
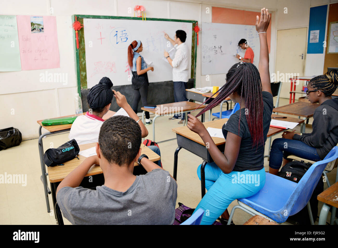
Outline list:
[[[321,174],[323,173],[325,167],[329,162],[336,160],[337,158],[338,146],[335,146],[323,160],[311,165],[294,188],[283,208],[284,211],[287,211],[288,215],[294,215],[306,206],[315,187],[317,186],[318,181],[321,179]]]

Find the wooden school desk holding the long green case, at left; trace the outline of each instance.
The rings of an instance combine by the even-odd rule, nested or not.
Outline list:
[[[109,117],[112,117],[116,112],[109,110],[102,119],[106,120]],[[86,114],[86,113],[83,113]],[[67,116],[74,116],[74,115],[67,115]],[[67,117],[67,116],[61,116],[61,117]],[[55,126],[42,126],[42,120],[38,120],[37,121],[38,124],[40,125],[39,127],[39,139],[38,139],[38,145],[39,145],[39,154],[40,154],[40,164],[41,164],[41,181],[43,183],[44,186],[44,190],[45,190],[45,198],[46,198],[46,204],[47,204],[47,212],[50,212],[50,206],[49,206],[49,200],[48,200],[48,194],[50,194],[50,190],[48,189],[48,185],[47,185],[47,175],[48,173],[46,173],[46,167],[45,167],[45,163],[43,162],[43,155],[44,155],[44,151],[43,151],[43,143],[42,143],[42,138],[47,136],[47,135],[51,135],[51,134],[58,134],[58,133],[65,133],[70,131],[70,128],[72,127],[72,124],[65,124],[65,125],[55,125]],[[41,129],[44,128],[46,129],[48,132],[41,134]]]

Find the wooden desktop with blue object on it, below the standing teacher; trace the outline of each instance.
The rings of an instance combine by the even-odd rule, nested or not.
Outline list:
[[[166,114],[179,113],[181,111],[195,110],[197,107],[198,107],[197,109],[202,109],[206,107],[205,105],[200,106],[200,104],[198,103],[192,103],[188,101],[160,104],[156,106],[157,107],[154,109],[144,108],[144,107],[142,107],[141,109],[144,111],[148,111],[150,113],[156,114],[156,115],[166,115]]]

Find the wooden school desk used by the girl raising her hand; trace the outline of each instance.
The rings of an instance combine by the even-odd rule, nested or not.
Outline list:
[[[271,115],[271,116],[275,116],[275,115]],[[284,120],[286,120],[286,119],[287,118],[284,118]],[[293,119],[295,119],[295,118],[290,118],[288,121],[293,120]],[[228,120],[227,118],[223,118],[223,119],[208,121],[208,122],[204,122],[203,125],[206,128],[211,127],[211,128],[221,129],[223,127],[224,123],[227,120]],[[304,120],[299,120],[299,121],[304,122]],[[204,167],[206,166],[207,163],[211,163],[211,162],[214,162],[214,161],[211,158],[208,149],[206,149],[206,145],[204,144],[201,137],[199,137],[198,134],[191,131],[187,126],[179,127],[179,128],[173,128],[172,131],[174,133],[176,133],[177,145],[178,145],[178,147],[175,150],[175,154],[174,154],[174,173],[173,173],[173,177],[176,180],[176,177],[177,177],[177,157],[178,157],[178,152],[181,148],[184,148],[184,149],[190,151],[191,153],[197,155],[198,157],[202,158],[203,162],[202,162],[202,165],[201,165],[201,192],[202,192],[202,198],[203,198],[203,196],[206,194]],[[267,137],[269,138],[273,135],[276,135],[276,134],[284,132],[284,131],[285,131],[285,129],[283,129],[283,128],[270,127],[268,134],[267,134]],[[217,145],[218,149],[223,152],[224,147],[225,147],[225,139],[224,138],[218,138],[218,137],[211,137],[211,138],[213,139],[213,141]]]

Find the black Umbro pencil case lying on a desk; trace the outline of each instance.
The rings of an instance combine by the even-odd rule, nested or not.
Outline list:
[[[71,159],[77,158],[80,148],[75,139],[72,139],[57,148],[49,148],[46,150],[43,161],[49,166],[61,165]]]

